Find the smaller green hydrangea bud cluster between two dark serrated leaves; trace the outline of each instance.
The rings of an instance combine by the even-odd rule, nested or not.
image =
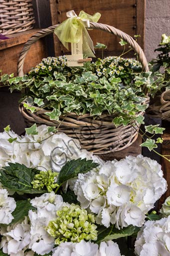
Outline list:
[[[40,173],[35,174],[34,180],[31,182],[31,184],[33,184],[33,188],[37,188],[38,190],[41,190],[44,188],[44,186],[46,186],[48,192],[51,192],[55,187],[59,186],[55,182],[57,175],[58,173],[53,172],[52,170],[41,170]]]

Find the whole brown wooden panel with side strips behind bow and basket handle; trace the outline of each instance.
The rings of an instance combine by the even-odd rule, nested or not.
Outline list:
[[[50,0],[50,9],[52,24],[65,20],[66,12],[71,9],[74,9],[77,15],[80,10],[89,14],[100,12],[101,18],[98,22],[113,25],[131,36],[141,34],[138,42],[144,47],[145,0]],[[96,29],[90,30],[89,34],[94,45],[101,42],[108,46],[105,55],[119,55],[122,52],[123,47],[119,44],[120,39],[117,36]],[[69,52],[55,35],[54,46],[55,55]],[[96,53],[96,56],[98,55],[101,54]]]

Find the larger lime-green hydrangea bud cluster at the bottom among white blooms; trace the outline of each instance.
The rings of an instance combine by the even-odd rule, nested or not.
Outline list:
[[[74,203],[63,206],[56,212],[57,218],[51,220],[45,228],[55,238],[55,244],[63,241],[80,242],[81,240],[96,240],[97,226],[93,214],[81,209]]]

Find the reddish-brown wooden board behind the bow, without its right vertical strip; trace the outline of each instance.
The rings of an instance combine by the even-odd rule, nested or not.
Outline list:
[[[52,13],[56,13],[58,11],[58,19],[56,20],[56,22],[62,22],[63,20],[65,20],[66,12],[68,10],[74,9],[75,12],[79,14],[80,10],[83,9],[89,14],[100,12],[101,18],[98,22],[113,25],[130,34],[131,36],[136,34],[136,0],[58,0],[57,4],[54,3],[54,0],[52,0],[52,2]],[[55,12],[54,9],[56,10]],[[51,15],[51,18],[53,19],[53,14]],[[89,30],[89,34],[94,42],[94,45],[96,44],[96,42],[101,42],[108,46],[107,50],[105,51],[106,56],[109,55],[112,51],[117,52],[122,51],[123,49],[119,44],[120,39],[117,36],[96,29]],[[143,36],[142,33],[141,36]],[[63,46],[61,47],[63,53],[70,52],[66,50]],[[57,48],[57,50],[59,50],[59,48]],[[55,52],[55,54],[56,53],[59,54],[58,51]]]

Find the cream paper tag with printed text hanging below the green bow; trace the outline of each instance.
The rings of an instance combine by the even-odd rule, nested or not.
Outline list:
[[[83,62],[78,60],[83,59],[83,36],[81,35],[79,42],[71,43],[71,55],[67,55],[67,66],[83,66]]]

